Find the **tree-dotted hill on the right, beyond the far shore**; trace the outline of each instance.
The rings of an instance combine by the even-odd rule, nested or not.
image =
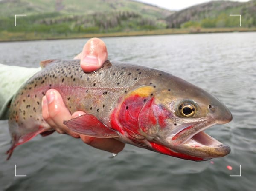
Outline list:
[[[210,1],[178,11],[166,18],[170,28],[180,27],[237,27],[241,14],[243,27],[256,26],[256,0],[249,2]]]

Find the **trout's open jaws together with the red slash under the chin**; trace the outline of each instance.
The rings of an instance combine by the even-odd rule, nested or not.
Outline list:
[[[232,115],[226,123],[231,120]],[[223,124],[224,121],[219,123]],[[204,161],[224,157],[230,153],[230,147],[204,132],[205,129],[215,124],[211,119],[182,124],[168,138],[155,137],[154,142],[150,144],[160,153],[186,160]]]

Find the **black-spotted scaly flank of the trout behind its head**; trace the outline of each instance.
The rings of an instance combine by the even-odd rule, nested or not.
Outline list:
[[[142,66],[119,63],[112,65],[110,62],[106,62],[98,71],[85,73],[81,70],[79,60],[56,61],[35,74],[18,91],[10,107],[10,120],[15,119],[16,113],[19,114],[19,120],[16,121],[18,125],[25,124],[26,119],[34,113],[36,120],[42,120],[41,100],[50,88],[60,92],[71,113],[78,110],[90,112],[104,120],[109,117],[121,94],[162,73]],[[34,104],[35,101],[37,104]]]

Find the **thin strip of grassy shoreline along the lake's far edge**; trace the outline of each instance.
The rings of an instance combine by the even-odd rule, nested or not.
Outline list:
[[[222,33],[222,32],[250,32],[256,31],[253,28],[186,28],[186,29],[158,29],[152,31],[126,31],[114,33],[95,33],[95,34],[49,34],[36,32],[7,32],[0,31],[0,42],[29,41],[29,40],[59,40],[59,39],[79,39],[91,37],[127,37],[127,36],[148,36],[165,34],[203,34],[203,33]]]

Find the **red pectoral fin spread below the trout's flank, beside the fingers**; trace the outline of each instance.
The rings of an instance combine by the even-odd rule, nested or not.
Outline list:
[[[72,131],[90,137],[119,137],[119,134],[116,131],[108,128],[107,125],[91,114],[84,114],[72,120],[64,121],[63,123]]]

